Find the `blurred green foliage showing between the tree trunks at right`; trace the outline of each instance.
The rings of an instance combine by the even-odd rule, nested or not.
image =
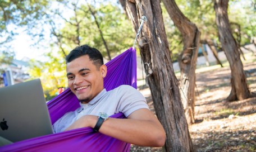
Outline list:
[[[213,9],[213,1],[206,0],[177,0],[175,1],[180,10],[190,21],[196,24],[201,32],[201,40],[211,39],[217,45],[221,45],[218,41],[218,30],[215,21],[215,12]],[[252,42],[255,37],[255,8],[252,1],[230,1],[228,17],[230,22],[237,23],[241,26],[241,45]],[[182,37],[180,32],[175,28],[175,25],[168,16],[167,11],[163,7],[164,26],[166,27],[166,34],[172,51],[173,61],[177,60],[179,53],[182,50]],[[234,36],[235,28],[233,28]]]

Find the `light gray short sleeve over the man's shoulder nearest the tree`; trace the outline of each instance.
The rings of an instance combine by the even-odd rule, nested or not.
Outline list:
[[[120,97],[118,109],[128,117],[132,112],[141,108],[149,110],[145,97],[135,88],[123,85],[117,90],[117,96]]]

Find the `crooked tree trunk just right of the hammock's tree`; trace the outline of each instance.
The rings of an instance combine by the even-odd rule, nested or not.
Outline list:
[[[183,50],[180,64],[182,103],[188,124],[193,124],[195,107],[195,69],[198,57],[200,32],[196,25],[183,15],[174,0],[163,0],[175,26],[182,34]]]

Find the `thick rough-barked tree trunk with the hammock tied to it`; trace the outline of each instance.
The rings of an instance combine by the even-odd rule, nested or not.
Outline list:
[[[166,131],[167,139],[163,151],[193,151],[181,102],[179,81],[172,67],[160,2],[126,1],[126,12],[135,31],[138,31],[141,16],[148,19],[138,44],[156,115]]]

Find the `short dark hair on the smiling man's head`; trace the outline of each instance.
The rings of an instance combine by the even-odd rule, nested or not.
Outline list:
[[[93,64],[96,68],[99,69],[101,65],[104,64],[103,56],[99,50],[90,47],[89,45],[81,45],[77,46],[75,49],[70,51],[70,53],[66,56],[66,64],[70,63],[72,60],[79,58],[83,55],[88,55],[89,59],[93,61]]]

